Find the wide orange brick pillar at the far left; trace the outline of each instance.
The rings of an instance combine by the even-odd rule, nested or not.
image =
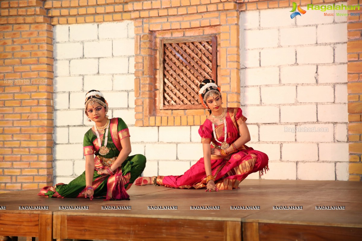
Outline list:
[[[1,1],[0,192],[52,185],[52,39],[43,1]]]

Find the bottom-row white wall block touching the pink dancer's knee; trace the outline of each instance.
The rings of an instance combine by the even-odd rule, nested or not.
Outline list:
[[[295,180],[296,163],[295,162],[269,162],[269,169],[261,176],[262,179],[272,180]]]

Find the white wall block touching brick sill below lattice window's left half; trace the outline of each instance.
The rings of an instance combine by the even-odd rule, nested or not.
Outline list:
[[[190,131],[190,126],[160,126],[159,142],[190,142]]]

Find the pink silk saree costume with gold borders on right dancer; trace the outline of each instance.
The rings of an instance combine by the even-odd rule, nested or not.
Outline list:
[[[227,143],[231,145],[239,138],[239,125],[247,120],[242,115],[240,108],[227,108]],[[220,142],[224,141],[224,124],[215,126],[216,137]],[[212,133],[212,123],[206,119],[199,128],[201,143],[220,145],[215,141]],[[211,146],[214,148],[214,146]],[[261,175],[268,168],[268,156],[246,145],[240,147],[241,151],[226,157],[211,155],[211,172],[215,177],[215,185],[219,190],[231,190],[237,188],[250,173],[260,171]],[[201,158],[188,171],[180,176],[157,176],[157,184],[172,188],[206,188],[206,173],[204,159]]]

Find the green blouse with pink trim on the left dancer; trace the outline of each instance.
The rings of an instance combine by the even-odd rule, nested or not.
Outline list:
[[[111,119],[111,123],[114,122],[115,120],[118,120],[118,125],[117,125],[117,130],[112,129],[115,128],[114,125],[110,124],[110,127],[108,129],[108,141],[107,141],[107,147],[109,149],[108,154],[106,155],[101,155],[98,153],[98,141],[97,141],[97,135],[93,133],[92,128],[90,128],[85,134],[84,134],[84,140],[83,140],[83,151],[84,151],[84,155],[100,155],[104,158],[113,158],[113,157],[117,157],[119,155],[119,152],[122,149],[122,146],[120,144],[121,139],[125,138],[125,137],[129,137],[129,130],[128,127],[126,125],[126,123],[121,119],[121,118],[112,118]],[[113,121],[112,121],[113,120]],[[119,137],[119,143],[118,143],[118,148],[116,146],[116,144],[113,142],[112,139],[112,135],[111,132],[113,130],[114,135],[116,135],[115,133],[117,133],[118,137]],[[104,146],[104,138],[102,138],[104,135],[100,135],[101,141],[102,141],[102,146]]]

